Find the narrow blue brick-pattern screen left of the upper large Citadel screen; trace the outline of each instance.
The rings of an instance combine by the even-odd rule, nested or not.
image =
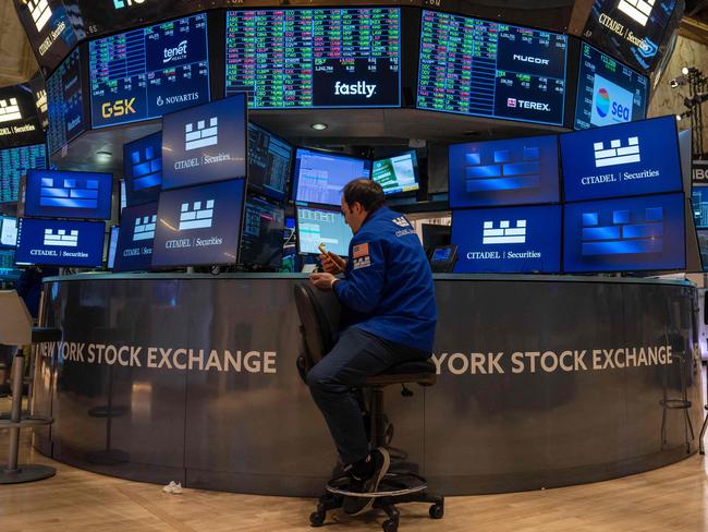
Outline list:
[[[125,204],[157,202],[162,189],[162,132],[123,145]]]

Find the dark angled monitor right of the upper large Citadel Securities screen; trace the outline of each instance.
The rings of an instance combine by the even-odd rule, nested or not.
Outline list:
[[[293,146],[259,125],[248,123],[248,188],[273,200],[285,200]]]

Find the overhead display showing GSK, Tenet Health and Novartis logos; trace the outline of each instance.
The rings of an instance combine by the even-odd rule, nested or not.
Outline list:
[[[161,117],[209,101],[207,15],[89,44],[94,128]]]

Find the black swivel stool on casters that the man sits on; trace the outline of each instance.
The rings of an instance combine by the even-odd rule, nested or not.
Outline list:
[[[295,286],[295,304],[301,319],[300,330],[303,340],[303,355],[298,358],[297,366],[301,376],[305,378],[309,368],[332,349],[334,336],[327,315],[309,285]],[[431,386],[435,382],[436,367],[429,360],[404,362],[365,380],[361,388],[370,391],[368,413],[370,416],[369,446],[371,448],[388,447],[383,388],[399,384],[402,386],[401,394],[407,397],[413,392],[405,387],[406,384],[417,383],[420,386]],[[374,508],[382,509],[388,516],[382,524],[384,532],[396,532],[399,528],[396,504],[430,503],[430,517],[441,519],[444,513],[444,498],[428,493],[428,485],[423,476],[396,467],[393,456],[391,459],[389,472],[381,480],[376,493],[349,492],[346,475],[330,480],[327,483],[327,493],[319,498],[317,510],[309,516],[310,524],[321,527],[327,512],[341,508],[345,496],[374,497]]]

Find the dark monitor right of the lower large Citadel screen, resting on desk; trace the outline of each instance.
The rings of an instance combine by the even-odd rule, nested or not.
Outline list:
[[[280,268],[283,262],[285,209],[259,197],[246,198],[241,264]]]

